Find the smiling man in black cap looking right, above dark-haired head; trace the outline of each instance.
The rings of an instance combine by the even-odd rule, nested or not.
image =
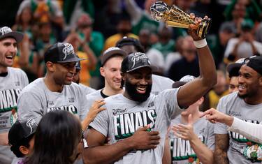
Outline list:
[[[69,43],[55,43],[44,56],[47,73],[23,89],[18,97],[18,117],[32,117],[39,122],[52,110],[66,110],[78,115],[80,120],[87,115],[84,91],[73,81],[78,58]]]

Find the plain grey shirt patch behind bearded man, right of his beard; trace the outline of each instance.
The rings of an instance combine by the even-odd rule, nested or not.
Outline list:
[[[166,89],[172,89],[172,85],[174,83],[173,80],[170,80],[168,77],[163,77],[159,75],[152,75],[152,91],[151,94],[159,94],[159,92],[164,91]]]

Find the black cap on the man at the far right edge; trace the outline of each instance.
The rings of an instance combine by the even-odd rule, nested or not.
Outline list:
[[[244,64],[256,70],[257,73],[262,75],[262,56],[252,56],[245,59]]]

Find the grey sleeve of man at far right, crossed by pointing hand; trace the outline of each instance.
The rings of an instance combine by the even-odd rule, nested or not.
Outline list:
[[[224,102],[224,98],[221,98],[219,100],[219,103],[217,105],[217,110],[219,110],[219,112],[225,113],[226,114],[226,103]],[[214,133],[215,134],[227,134],[227,126],[226,124],[222,124],[222,123],[217,123],[214,124]]]

